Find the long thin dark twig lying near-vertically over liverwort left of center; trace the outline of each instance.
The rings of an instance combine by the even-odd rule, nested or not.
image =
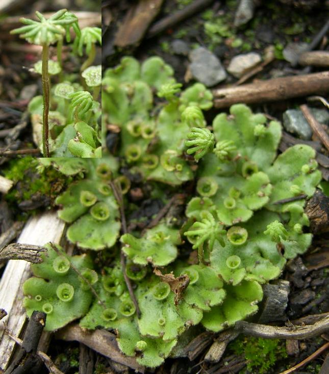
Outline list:
[[[121,186],[116,185],[112,181],[110,182],[110,186],[113,190],[114,197],[116,198],[116,200],[118,202],[118,205],[119,205],[122,232],[123,232],[123,234],[126,234],[127,233],[127,223],[126,223],[125,214],[124,214],[124,205],[123,205],[123,197],[122,197]],[[130,282],[130,279],[128,278],[127,273],[125,271],[125,256],[124,256],[124,253],[122,251],[122,247],[121,247],[121,250],[120,250],[120,264],[121,264],[121,268],[122,268],[124,282],[125,282],[125,284],[128,288],[130,297],[131,297],[131,299],[132,299],[132,301],[135,305],[137,316],[138,316],[138,318],[140,318],[141,312],[140,312],[140,309],[139,309],[138,301],[137,301],[137,298],[134,294],[133,286]]]

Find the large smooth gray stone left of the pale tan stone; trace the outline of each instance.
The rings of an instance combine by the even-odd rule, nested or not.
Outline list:
[[[207,87],[226,79],[226,71],[219,59],[208,49],[199,47],[194,49],[190,55],[189,65],[192,77]]]

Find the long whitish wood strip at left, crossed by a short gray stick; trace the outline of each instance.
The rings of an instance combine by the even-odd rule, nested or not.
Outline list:
[[[65,223],[57,218],[56,212],[46,212],[31,217],[21,232],[18,242],[44,245],[48,241],[59,243],[64,233]],[[0,368],[6,370],[12,356],[15,342],[6,334],[8,331],[19,336],[26,321],[22,306],[23,283],[30,277],[30,263],[10,260],[0,281],[0,306],[8,315],[0,321]]]

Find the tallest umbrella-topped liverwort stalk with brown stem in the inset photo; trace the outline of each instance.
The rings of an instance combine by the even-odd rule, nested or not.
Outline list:
[[[42,89],[43,89],[43,135],[42,147],[43,155],[49,157],[49,135],[48,135],[48,114],[49,114],[49,45],[57,43],[63,39],[65,26],[77,22],[77,17],[73,14],[63,17],[66,9],[59,10],[48,19],[40,12],[36,12],[39,21],[28,18],[20,18],[20,21],[26,26],[12,30],[12,34],[21,34],[21,38],[26,39],[32,44],[42,45]]]

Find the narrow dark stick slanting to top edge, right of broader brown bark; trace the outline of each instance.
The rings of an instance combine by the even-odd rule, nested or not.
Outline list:
[[[147,32],[146,37],[152,38],[157,34],[175,26],[192,15],[205,10],[214,0],[195,0],[191,4],[187,5],[184,9],[175,12],[160,21],[156,22]]]

